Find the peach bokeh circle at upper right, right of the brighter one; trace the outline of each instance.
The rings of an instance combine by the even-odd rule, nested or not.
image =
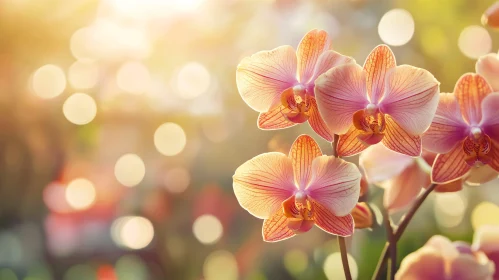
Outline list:
[[[465,56],[477,59],[492,50],[492,38],[487,29],[478,25],[468,26],[459,35],[458,47]]]

